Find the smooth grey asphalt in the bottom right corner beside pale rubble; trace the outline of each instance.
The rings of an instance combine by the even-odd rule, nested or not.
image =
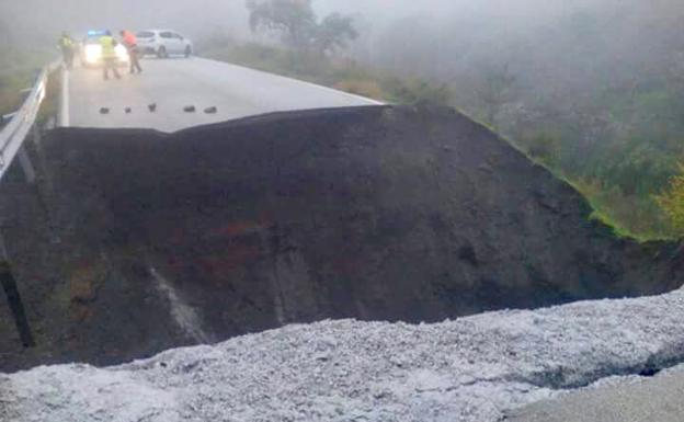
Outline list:
[[[514,411],[506,422],[682,422],[684,370],[604,386]]]

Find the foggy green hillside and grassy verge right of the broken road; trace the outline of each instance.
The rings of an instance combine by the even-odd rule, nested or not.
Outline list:
[[[615,1],[557,7],[544,24],[493,11],[408,16],[374,35],[360,30],[345,58],[289,35],[205,53],[391,102],[456,106],[570,181],[622,233],[672,238],[674,203],[662,198],[684,160],[684,12],[671,0],[629,0],[629,10]],[[290,16],[317,22],[310,1],[259,3],[296,4]]]

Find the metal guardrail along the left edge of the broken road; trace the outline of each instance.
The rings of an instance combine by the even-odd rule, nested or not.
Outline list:
[[[0,180],[12,164],[35,124],[43,100],[45,100],[47,78],[59,66],[60,61],[54,61],[41,71],[22,106],[13,114],[12,119],[0,129]]]

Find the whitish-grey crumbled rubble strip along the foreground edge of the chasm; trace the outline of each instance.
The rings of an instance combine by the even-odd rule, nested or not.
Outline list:
[[[110,368],[37,367],[0,375],[0,421],[494,422],[681,362],[684,289],[436,324],[324,321]]]

